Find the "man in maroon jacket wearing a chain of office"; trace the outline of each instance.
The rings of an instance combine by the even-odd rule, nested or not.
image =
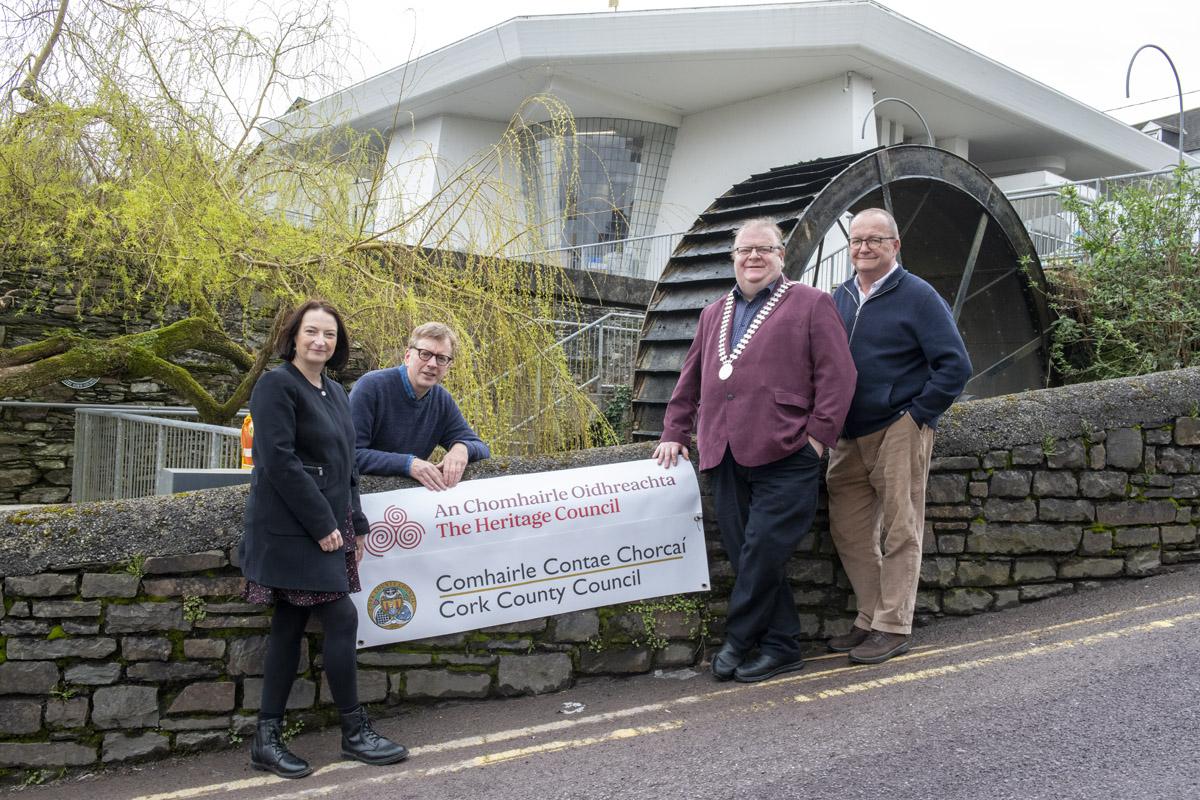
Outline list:
[[[700,468],[737,572],[713,675],[751,682],[804,666],[786,564],[812,524],[821,457],[857,373],[830,296],[784,277],[773,219],[737,230],[733,272],[737,285],[700,315],[654,458],[688,457],[698,408]]]

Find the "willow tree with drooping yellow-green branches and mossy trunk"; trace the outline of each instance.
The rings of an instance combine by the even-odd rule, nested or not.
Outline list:
[[[269,363],[256,318],[277,324],[322,296],[370,366],[416,324],[457,329],[448,383],[493,450],[587,444],[593,408],[545,324],[575,313],[569,284],[505,258],[538,249],[520,193],[526,109],[434,197],[403,197],[378,132],[270,125],[281,98],[344,78],[323,72],[347,62],[349,40],[322,6],[264,4],[239,24],[202,0],[18,0],[0,13],[0,248],[18,276],[0,302],[36,317],[66,291],[80,315],[178,320],[0,350],[0,396],[152,375],[202,419],[228,420]],[[570,125],[552,100],[534,102],[538,119]],[[211,396],[179,363],[185,351],[233,365],[236,390]]]

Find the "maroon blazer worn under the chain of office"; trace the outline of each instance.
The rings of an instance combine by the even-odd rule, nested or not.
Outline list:
[[[701,469],[720,464],[726,446],[738,464],[761,467],[799,451],[810,437],[836,445],[858,373],[833,299],[792,284],[733,362],[728,380],[716,375],[724,306],[722,296],[700,314],[662,420],[662,441],[690,446],[698,409]],[[732,351],[728,343],[726,353]]]

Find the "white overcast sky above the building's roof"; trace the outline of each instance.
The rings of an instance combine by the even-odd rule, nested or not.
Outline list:
[[[506,19],[526,14],[610,12],[611,0],[342,0],[362,42],[356,78],[370,77]],[[619,0],[620,11],[755,5],[743,0]],[[1114,116],[1134,122],[1200,107],[1200,2],[1196,0],[882,0],[882,5],[965,47]],[[1133,108],[1122,106],[1169,96]]]

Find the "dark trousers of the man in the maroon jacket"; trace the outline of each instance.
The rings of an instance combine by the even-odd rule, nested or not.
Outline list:
[[[761,467],[743,467],[726,449],[710,473],[716,524],[737,578],[726,640],[781,658],[798,658],[800,618],[787,582],[787,559],[812,527],[821,458],[812,445]]]

